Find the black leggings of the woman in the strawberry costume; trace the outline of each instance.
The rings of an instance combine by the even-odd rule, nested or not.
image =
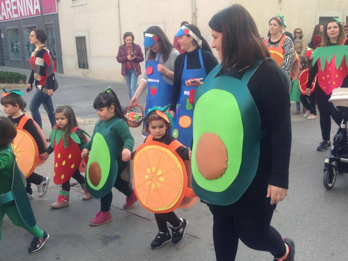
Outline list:
[[[336,110],[335,106],[329,102],[331,97],[330,95],[326,95],[322,88],[319,85],[315,87],[316,99],[318,110],[320,114],[320,128],[322,129],[322,137],[323,141],[330,140],[330,131],[331,131],[331,118],[340,126],[343,116],[342,112]]]

